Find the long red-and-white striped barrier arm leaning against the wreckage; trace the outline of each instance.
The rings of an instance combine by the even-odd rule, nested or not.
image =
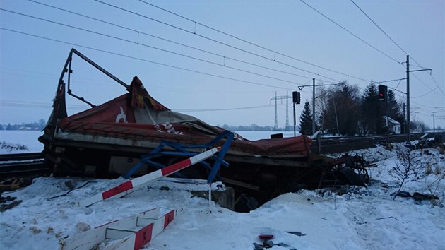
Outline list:
[[[151,172],[149,174],[132,179],[130,181],[125,181],[124,183],[119,184],[118,186],[114,186],[113,188],[108,189],[107,191],[104,191],[100,194],[95,194],[94,196],[85,198],[84,200],[79,202],[79,206],[91,206],[94,203],[106,200],[107,198],[122,197],[126,194],[135,191],[136,189],[141,188],[150,181],[154,181],[155,179],[159,179],[160,177],[166,177],[186,167],[190,167],[191,165],[206,160],[212,155],[215,155],[215,153],[217,153],[219,150],[220,147],[212,148],[210,150],[204,151],[203,153],[190,157],[186,160],[182,160],[180,162],[174,163],[173,165],[169,165],[167,167],[159,169],[155,172]]]

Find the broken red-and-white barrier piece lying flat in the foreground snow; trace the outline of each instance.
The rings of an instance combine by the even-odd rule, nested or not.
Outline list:
[[[118,250],[141,249],[167,227],[177,215],[170,210],[160,216],[159,208],[154,208],[122,220],[114,220],[93,230],[76,234],[75,237],[61,239],[61,250]],[[104,242],[104,244],[102,244]]]

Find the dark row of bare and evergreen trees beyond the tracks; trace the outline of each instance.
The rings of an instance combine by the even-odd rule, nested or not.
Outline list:
[[[387,101],[379,100],[378,95],[375,83],[367,85],[362,95],[357,86],[345,82],[330,90],[318,88],[315,99],[316,130],[342,136],[382,134],[386,133],[384,116],[388,114],[401,124],[401,133],[405,133],[403,102],[396,100],[393,90],[388,90]],[[300,116],[299,132],[311,135],[313,122],[312,107],[307,101]],[[425,131],[427,127],[421,121],[410,121],[410,129]]]

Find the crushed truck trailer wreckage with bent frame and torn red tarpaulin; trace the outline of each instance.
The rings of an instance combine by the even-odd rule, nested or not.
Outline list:
[[[128,93],[98,106],[72,93],[74,54]],[[68,116],[66,93],[91,108]],[[177,172],[177,177],[223,181],[235,189],[238,201],[254,197],[259,204],[302,188],[363,186],[368,178],[363,162],[356,157],[332,159],[312,154],[312,139],[307,136],[249,141],[233,131],[173,112],[150,96],[139,78],[127,85],[76,49],[71,49],[66,60],[52,114],[39,140],[45,144],[45,162],[54,174],[123,175],[128,179],[220,147],[213,157]]]

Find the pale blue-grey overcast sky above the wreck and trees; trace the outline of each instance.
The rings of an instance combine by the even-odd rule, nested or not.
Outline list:
[[[307,1],[307,4],[381,52],[339,28],[302,1],[150,1],[189,20],[142,1],[107,1],[127,11],[99,1],[41,2],[136,31],[100,23],[32,1],[1,0],[0,8],[7,10],[0,11],[1,124],[49,117],[57,81],[71,47],[126,83],[130,83],[133,76],[138,76],[148,92],[170,109],[194,115],[214,125],[273,126],[275,107],[270,105],[270,100],[275,92],[282,96],[288,90],[291,95],[292,90],[298,90],[299,85],[312,83],[312,78],[316,78],[316,84],[347,81],[362,90],[369,81],[405,78],[405,64],[401,62],[405,62],[406,54],[355,4],[412,56],[410,69],[422,69],[417,64],[432,69],[431,76],[429,71],[410,74],[411,119],[432,126],[432,112],[445,111],[444,1],[355,1],[355,4],[352,1]],[[194,21],[198,24],[195,25]],[[228,37],[203,25],[266,49]],[[78,58],[73,61],[73,71],[73,93],[94,104],[126,92],[121,85],[97,73]],[[406,91],[405,80],[386,84],[401,92]],[[311,100],[311,91],[312,88],[302,89],[303,102]],[[396,95],[404,102],[405,95],[401,92],[396,91]],[[71,114],[81,111],[81,107],[87,107],[77,100],[68,102]],[[280,101],[278,103],[281,104]],[[302,106],[297,106],[297,117]],[[256,108],[239,109],[244,107]],[[289,115],[292,123],[291,110]],[[444,117],[443,112],[436,113],[436,126],[445,127]],[[278,106],[278,125],[285,125],[285,101]]]

